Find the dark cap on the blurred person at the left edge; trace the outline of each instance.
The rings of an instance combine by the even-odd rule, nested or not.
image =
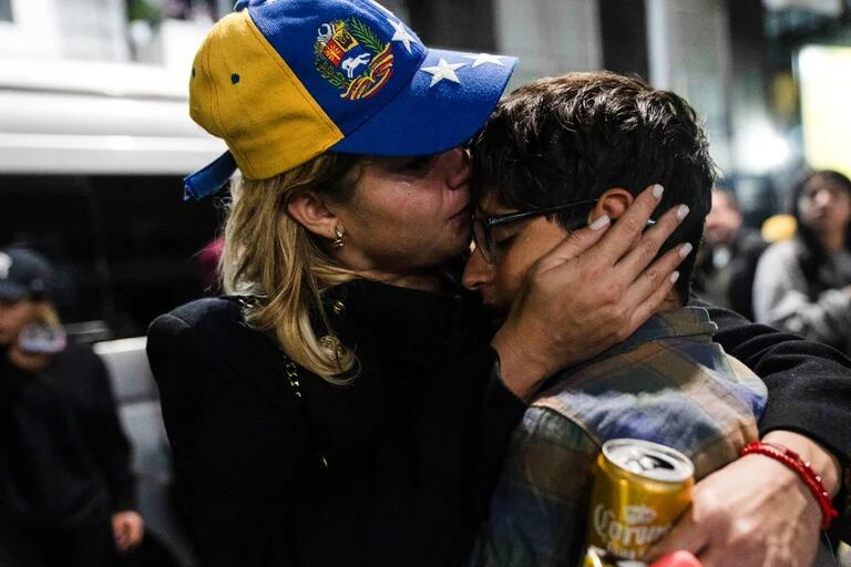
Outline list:
[[[53,268],[28,248],[0,249],[0,299],[19,301],[50,296]]]

